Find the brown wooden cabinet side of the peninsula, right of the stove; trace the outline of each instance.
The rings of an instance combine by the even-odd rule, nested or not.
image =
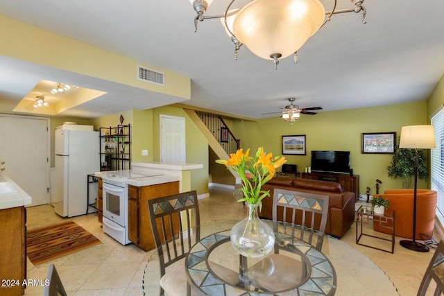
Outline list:
[[[144,251],[155,249],[147,200],[179,193],[179,188],[179,181],[150,186],[128,185],[128,238],[130,241]]]

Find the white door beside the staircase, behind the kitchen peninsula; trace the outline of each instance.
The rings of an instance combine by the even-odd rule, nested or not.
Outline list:
[[[160,114],[160,162],[185,163],[185,118]]]

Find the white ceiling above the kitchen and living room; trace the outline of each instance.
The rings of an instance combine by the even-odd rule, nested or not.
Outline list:
[[[229,2],[215,0],[207,14],[224,12]],[[333,1],[322,2],[331,9]],[[187,76],[191,100],[184,103],[221,112],[261,118],[289,97],[323,111],[425,100],[444,73],[444,1],[366,0],[364,6],[367,24],[354,12],[334,15],[298,51],[297,64],[289,57],[278,70],[246,46],[235,61],[219,19],[200,22],[194,33],[196,13],[187,0],[2,0],[0,15]],[[351,7],[338,0],[338,8]],[[0,69],[0,112],[10,112],[42,79],[108,92],[60,116],[178,102],[161,94],[146,102],[147,91],[135,87],[1,56]]]

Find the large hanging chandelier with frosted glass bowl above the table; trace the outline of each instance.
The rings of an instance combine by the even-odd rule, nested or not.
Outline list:
[[[220,18],[225,31],[234,43],[234,60],[239,48],[245,44],[260,58],[272,60],[278,69],[279,60],[293,54],[298,60],[297,51],[314,35],[332,15],[343,12],[361,12],[361,21],[366,24],[364,0],[351,0],[354,8],[325,12],[319,0],[253,0],[240,9],[231,10],[232,0],[223,15],[204,15],[213,0],[189,0],[197,12],[194,28],[198,21]],[[325,18],[325,16],[327,16]]]

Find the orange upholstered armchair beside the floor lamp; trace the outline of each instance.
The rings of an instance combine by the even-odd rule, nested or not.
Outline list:
[[[392,189],[380,194],[388,201],[388,209],[395,211],[395,235],[404,238],[412,238],[413,234],[413,189]],[[420,239],[419,234],[432,236],[436,212],[436,191],[428,189],[418,189],[416,198],[416,239]],[[373,223],[373,227],[378,232],[387,232]]]

